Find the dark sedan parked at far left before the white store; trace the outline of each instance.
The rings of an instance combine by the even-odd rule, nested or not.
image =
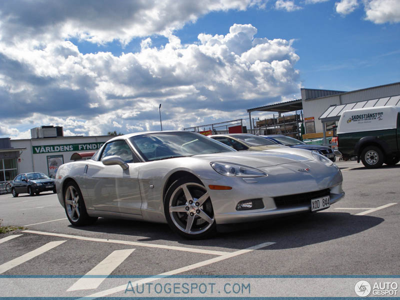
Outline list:
[[[40,172],[19,174],[11,182],[11,193],[13,197],[28,193],[30,196],[41,192],[52,191],[56,193],[55,180]]]

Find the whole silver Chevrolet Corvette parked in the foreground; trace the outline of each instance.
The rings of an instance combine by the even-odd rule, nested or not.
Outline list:
[[[98,217],[144,220],[192,239],[218,224],[322,210],[344,196],[340,170],[316,152],[237,152],[181,131],[112,138],[91,160],[60,166],[56,190],[75,226]]]

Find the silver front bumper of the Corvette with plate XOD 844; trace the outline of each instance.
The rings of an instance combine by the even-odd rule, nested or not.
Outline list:
[[[336,167],[321,167],[310,163],[310,171],[302,172],[304,164],[290,164],[269,167],[268,176],[258,178],[228,178],[220,180],[203,180],[206,187],[209,184],[231,186],[232,190],[208,190],[212,200],[214,216],[217,224],[232,224],[253,222],[277,216],[285,216],[302,212],[311,212],[311,197],[299,204],[293,203],[284,207],[278,206],[275,199],[278,197],[296,198],[299,194],[313,194],[326,191],[323,196],[330,196],[330,204],[338,202],[344,197],[342,190],[342,174]],[[261,169],[261,168],[260,168]],[[321,172],[325,171],[325,172]],[[236,210],[240,201],[262,199],[264,208],[254,210]]]

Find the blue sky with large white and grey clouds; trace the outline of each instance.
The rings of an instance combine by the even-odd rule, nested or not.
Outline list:
[[[0,137],[158,130],[160,102],[182,129],[400,81],[399,0],[197,2],[2,2]]]

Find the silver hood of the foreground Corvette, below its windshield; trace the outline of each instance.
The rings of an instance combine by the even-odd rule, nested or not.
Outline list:
[[[230,162],[242,164],[253,168],[277,166],[280,164],[291,164],[298,162],[308,162],[314,160],[308,150],[294,148],[279,148],[267,151],[238,151],[213,154],[198,154],[193,158],[208,160],[210,162]]]

